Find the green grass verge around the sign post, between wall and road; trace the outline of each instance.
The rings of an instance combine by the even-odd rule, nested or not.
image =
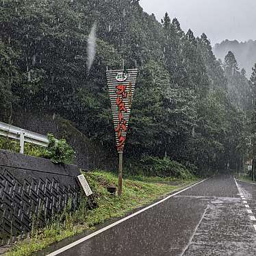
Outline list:
[[[117,186],[118,184],[118,179],[113,174],[99,171],[84,174],[94,192],[94,201],[98,207],[88,209],[88,201],[84,198],[75,212],[67,208],[62,214],[53,216],[46,227],[34,228],[31,238],[17,242],[5,255],[31,255],[64,238],[87,229],[95,229],[95,225],[102,224],[107,219],[124,216],[133,209],[151,203],[161,196],[180,190],[196,181],[196,179],[172,181],[158,177],[144,178],[144,180],[140,177],[138,181],[136,177],[133,177],[133,179],[123,181],[123,196],[118,198],[111,196],[106,189],[108,185]]]

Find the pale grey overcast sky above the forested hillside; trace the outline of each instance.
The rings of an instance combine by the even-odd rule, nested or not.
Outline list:
[[[183,30],[203,32],[214,45],[222,40],[256,40],[256,0],[140,0],[145,12],[157,19],[168,12]]]

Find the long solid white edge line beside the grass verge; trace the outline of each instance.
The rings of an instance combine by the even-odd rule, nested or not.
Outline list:
[[[86,237],[84,238],[81,238],[71,244],[68,244],[67,246],[64,246],[62,248],[60,248],[59,250],[57,251],[54,251],[53,253],[49,253],[47,256],[55,256],[55,255],[58,255],[60,253],[63,253],[64,251],[70,249],[70,248],[73,248],[74,246],[76,246],[77,244],[81,244],[82,242],[85,242],[86,240],[90,239],[90,238],[93,238],[95,235],[99,235],[100,233],[103,233],[104,231],[106,231],[107,229],[111,229],[112,227],[115,227],[116,225],[124,222],[125,220],[129,220],[130,218],[133,218],[134,216],[138,215],[138,214],[141,214],[142,212],[145,212],[147,209],[151,209],[152,207],[154,207],[155,205],[159,205],[160,203],[163,203],[164,201],[170,199],[171,197],[173,196],[176,196],[177,194],[180,194],[181,192],[184,192],[185,190],[189,190],[190,188],[193,188],[195,185],[199,185],[200,183],[206,181],[207,179],[204,179],[203,181],[199,181],[198,183],[195,183],[194,185],[190,185],[190,187],[188,188],[184,188],[183,190],[180,190],[174,194],[170,194],[170,196],[167,196],[165,199],[162,199],[161,201],[158,201],[157,203],[154,203],[153,205],[149,205],[148,207],[145,207],[143,209],[141,209],[140,211],[134,213],[134,214],[131,214],[125,218],[122,218],[121,220],[118,220],[114,223],[112,223],[111,225],[108,225],[107,227],[103,227],[103,229],[99,229],[98,231],[94,232],[94,233],[91,233],[90,235],[86,235]]]

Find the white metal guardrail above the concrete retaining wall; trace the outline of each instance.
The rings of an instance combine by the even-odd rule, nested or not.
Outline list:
[[[0,136],[12,138],[20,141],[20,153],[24,153],[24,143],[30,142],[39,146],[48,146],[49,139],[47,136],[43,136],[33,131],[27,131],[25,129],[18,128],[13,125],[0,122]]]

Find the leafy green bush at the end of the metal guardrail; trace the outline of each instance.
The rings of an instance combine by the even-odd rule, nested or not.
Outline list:
[[[51,159],[55,164],[73,164],[75,151],[66,143],[65,139],[56,140],[53,134],[49,133],[49,144],[44,150],[43,156]]]

